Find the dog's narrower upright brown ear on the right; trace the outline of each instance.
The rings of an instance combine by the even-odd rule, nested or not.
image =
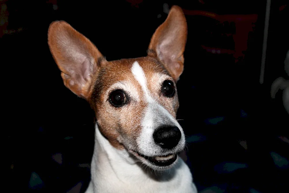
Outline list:
[[[187,22],[180,7],[173,6],[166,21],[155,30],[148,55],[158,57],[177,81],[184,70],[184,50],[187,41]]]

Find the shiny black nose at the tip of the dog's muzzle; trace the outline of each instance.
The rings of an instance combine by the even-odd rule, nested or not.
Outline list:
[[[181,131],[177,127],[162,126],[153,133],[155,143],[165,149],[174,148],[181,139]]]

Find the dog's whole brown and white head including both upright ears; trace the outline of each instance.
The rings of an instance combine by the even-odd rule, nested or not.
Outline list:
[[[176,120],[176,82],[183,71],[187,26],[173,6],[153,34],[148,56],[106,61],[64,21],[51,23],[48,44],[64,84],[95,110],[101,133],[153,169],[171,167],[184,149]]]

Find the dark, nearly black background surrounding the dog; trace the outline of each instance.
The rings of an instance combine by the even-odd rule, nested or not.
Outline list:
[[[63,85],[47,45],[49,24],[70,23],[108,61],[142,57],[166,19],[167,3],[169,8],[175,4],[219,15],[257,14],[254,24],[247,22],[251,32],[235,32],[234,23],[186,14],[188,41],[185,70],[177,83],[177,115],[183,119],[186,162],[199,192],[288,191],[289,116],[282,92],[270,97],[273,81],[288,79],[285,0],[271,2],[263,84],[259,77],[266,1],[0,2],[4,189],[84,192],[90,179],[94,113]],[[244,57],[213,54],[202,47],[237,50],[234,33],[247,36]]]

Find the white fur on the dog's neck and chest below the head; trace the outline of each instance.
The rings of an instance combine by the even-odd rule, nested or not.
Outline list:
[[[177,161],[178,164],[168,171],[149,170],[127,150],[112,147],[96,126],[91,182],[86,193],[196,193],[188,166],[182,159]]]

